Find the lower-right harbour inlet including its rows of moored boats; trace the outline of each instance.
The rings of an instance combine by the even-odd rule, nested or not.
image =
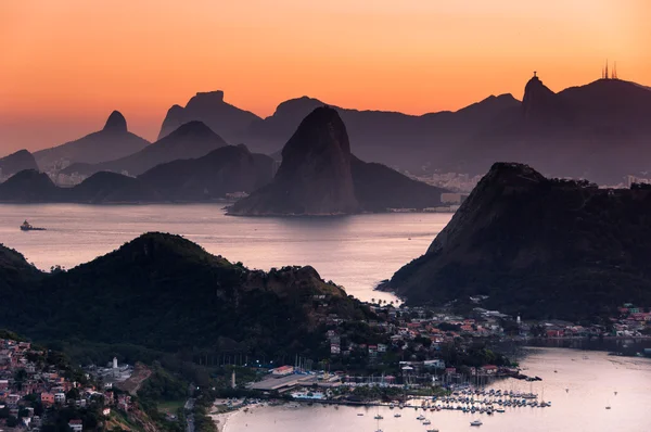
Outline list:
[[[324,401],[260,406],[233,417],[226,431],[648,430],[646,407],[651,403],[651,360],[613,357],[603,352],[529,348],[521,366],[542,381],[498,380],[485,389],[468,386],[449,396],[411,398],[401,409],[395,403],[393,407],[391,403],[345,406]],[[375,419],[376,415],[382,419]]]

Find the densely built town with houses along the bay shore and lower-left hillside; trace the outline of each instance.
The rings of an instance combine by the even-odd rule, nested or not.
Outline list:
[[[625,348],[627,340],[651,334],[649,307],[624,304],[609,326],[578,325],[511,317],[481,307],[486,298],[471,297],[475,307],[467,316],[454,314],[449,306],[396,307],[374,300],[367,306],[376,320],[320,315],[318,320],[327,329],[327,358],[315,361],[296,355],[293,365],[280,366],[256,360],[247,366],[256,371],[255,380],[237,382],[233,371],[229,386],[246,389],[253,392],[247,393],[250,396],[346,405],[410,406],[413,397],[429,396],[433,397],[427,399],[427,404],[434,404],[433,409],[458,406],[470,412],[474,412],[473,403],[452,404],[450,408],[450,402],[464,401],[459,396],[463,392],[480,392],[477,395],[494,397],[496,405],[477,405],[477,412],[492,414],[500,412],[499,404],[507,403],[507,395],[513,404],[545,403],[534,401],[534,393],[525,395],[532,401],[522,402],[520,393],[505,391],[498,395],[483,390],[501,378],[541,380],[522,373],[518,347],[541,342],[554,346],[563,341],[613,340],[623,341],[618,346]],[[319,295],[315,301],[326,305],[328,297]],[[651,356],[649,350],[613,354]],[[92,430],[98,423],[108,422],[112,414],[132,408],[129,393],[118,387],[133,374],[132,366],[119,365],[116,358],[105,367],[74,370],[54,352],[25,341],[0,339],[0,427],[40,431],[46,423],[65,421],[73,431]],[[497,396],[502,395],[498,404]]]

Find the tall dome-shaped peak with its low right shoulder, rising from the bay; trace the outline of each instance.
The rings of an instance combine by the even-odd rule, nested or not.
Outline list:
[[[384,165],[350,153],[339,112],[319,106],[308,114],[282,149],[273,180],[234,203],[239,216],[324,216],[433,207],[444,190],[411,180]]]

